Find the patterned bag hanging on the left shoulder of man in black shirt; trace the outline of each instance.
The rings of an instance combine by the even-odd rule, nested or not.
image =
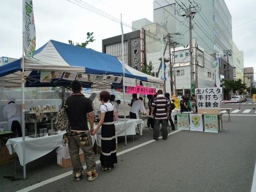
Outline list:
[[[61,108],[61,110],[59,112],[57,112],[54,124],[55,124],[55,127],[57,128],[57,130],[61,130],[61,131],[67,130],[67,132],[69,132],[70,124],[69,124],[69,119],[68,119],[68,113],[65,110],[66,108],[68,108],[68,106],[65,105],[66,99],[64,101],[64,105]]]

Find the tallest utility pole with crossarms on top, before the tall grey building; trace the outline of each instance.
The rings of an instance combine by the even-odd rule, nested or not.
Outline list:
[[[191,95],[192,95],[192,94],[195,94],[195,88],[196,88],[195,84],[197,79],[197,74],[195,71],[196,68],[193,67],[192,19],[194,18],[195,14],[201,10],[201,6],[199,5],[199,3],[196,3],[195,1],[193,3],[189,1],[189,3],[190,4],[188,7],[185,6],[184,3],[182,3],[183,6],[177,3],[177,5],[179,5],[179,9],[177,9],[177,14],[180,16],[185,16],[189,20],[189,54],[190,54],[190,66],[191,66]]]

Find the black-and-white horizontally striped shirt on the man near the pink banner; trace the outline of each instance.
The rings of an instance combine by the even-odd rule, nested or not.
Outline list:
[[[154,108],[155,119],[167,119],[167,107],[170,107],[169,99],[164,95],[157,95],[151,105],[151,108]]]

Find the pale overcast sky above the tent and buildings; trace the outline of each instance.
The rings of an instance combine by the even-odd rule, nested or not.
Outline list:
[[[70,0],[75,2],[75,0]],[[114,18],[120,18],[131,26],[133,20],[147,18],[153,21],[152,0],[82,0],[104,11]],[[164,0],[157,0],[164,1]],[[256,72],[256,1],[225,0],[232,15],[233,41],[244,53],[246,66],[253,66]],[[98,15],[67,0],[33,0],[36,25],[36,48],[54,39],[68,43],[71,39],[82,42],[86,32],[94,32],[96,41],[88,48],[102,51],[102,39],[121,34],[120,24]],[[1,1],[1,43],[0,56],[19,58],[22,56],[22,0]],[[88,5],[86,5],[88,7]],[[253,20],[250,22],[251,20]],[[249,22],[249,23],[246,23]],[[246,23],[246,24],[243,24]],[[131,32],[124,27],[124,32]]]

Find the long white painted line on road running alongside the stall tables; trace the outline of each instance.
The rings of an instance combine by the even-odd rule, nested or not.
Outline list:
[[[171,133],[169,133],[168,135],[172,135],[172,134],[177,133],[177,132],[179,132],[179,131],[181,131],[181,130],[177,130],[177,131],[171,132]],[[162,139],[162,136],[159,137],[159,139]],[[133,151],[134,149],[138,149],[138,148],[140,148],[140,147],[143,147],[144,145],[153,143],[154,141],[156,141],[156,140],[152,139],[152,140],[147,141],[147,142],[145,142],[145,143],[142,143],[142,144],[136,145],[136,146],[134,146],[134,147],[131,147],[131,148],[129,148],[129,149],[126,149],[126,150],[124,150],[124,151],[121,151],[121,152],[117,153],[117,156],[123,155],[124,153],[130,152],[130,151]],[[96,164],[100,164],[100,160],[96,161]],[[84,165],[83,168],[86,169],[86,165]],[[31,186],[26,187],[26,188],[24,188],[24,189],[21,189],[21,190],[19,190],[18,192],[31,191],[31,190],[34,190],[34,189],[36,189],[36,188],[38,188],[38,187],[42,187],[42,186],[44,186],[44,185],[47,185],[48,183],[51,183],[51,182],[53,182],[53,181],[57,181],[57,180],[60,180],[61,178],[70,176],[70,175],[72,175],[72,174],[73,174],[73,172],[72,172],[72,171],[69,171],[69,172],[60,174],[59,176],[49,178],[48,180],[42,181],[42,182],[40,182],[40,183],[36,183],[35,185],[31,185]]]

